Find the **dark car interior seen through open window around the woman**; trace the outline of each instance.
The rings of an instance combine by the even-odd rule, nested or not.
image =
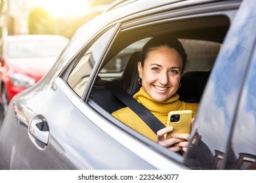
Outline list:
[[[200,103],[203,89],[230,25],[229,19],[218,15],[180,22],[167,21],[164,24],[146,23],[135,25],[134,29],[126,29],[124,24],[112,41],[100,63],[89,95],[95,110],[102,112],[104,109],[103,111],[111,114],[126,106],[110,92],[110,83],[119,86],[131,97],[139,91],[141,86],[138,82],[137,63],[140,61],[140,51],[142,46],[156,35],[171,35],[181,41],[188,55],[188,65],[181,78],[182,87],[177,93],[181,101]]]

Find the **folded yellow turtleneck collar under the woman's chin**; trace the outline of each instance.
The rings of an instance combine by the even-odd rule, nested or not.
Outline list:
[[[179,94],[177,93],[166,101],[158,102],[152,99],[141,87],[139,92],[135,93],[133,97],[156,116],[167,116],[170,111],[179,110],[182,106],[182,102],[179,100]]]

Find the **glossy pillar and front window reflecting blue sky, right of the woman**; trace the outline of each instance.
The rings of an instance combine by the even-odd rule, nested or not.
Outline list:
[[[191,169],[247,169],[255,162],[255,6],[243,1],[207,82],[185,159]]]

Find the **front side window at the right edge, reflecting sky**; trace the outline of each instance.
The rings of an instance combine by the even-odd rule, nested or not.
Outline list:
[[[240,107],[232,136],[232,154],[229,165],[236,169],[256,168],[256,54],[249,67],[249,72],[240,99]],[[234,167],[233,167],[234,168]]]

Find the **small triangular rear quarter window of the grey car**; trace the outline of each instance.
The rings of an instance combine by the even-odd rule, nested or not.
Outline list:
[[[72,69],[70,76],[68,76],[68,84],[79,97],[83,95],[87,81],[95,63],[102,57],[102,53],[106,48],[106,44],[112,35],[113,29],[106,31],[94,44],[83,54],[81,59],[77,61],[75,67]]]

